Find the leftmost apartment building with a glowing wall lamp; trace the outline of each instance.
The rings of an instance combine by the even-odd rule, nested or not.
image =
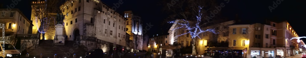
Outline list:
[[[0,12],[0,23],[5,26],[5,36],[32,34],[32,21],[28,20],[19,9],[12,9],[10,11],[7,11],[7,9],[0,9]]]

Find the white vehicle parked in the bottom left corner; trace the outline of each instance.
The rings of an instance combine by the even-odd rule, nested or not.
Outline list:
[[[12,44],[1,43],[0,45],[0,49],[4,50],[4,52],[0,51],[0,58],[20,58],[21,53]]]

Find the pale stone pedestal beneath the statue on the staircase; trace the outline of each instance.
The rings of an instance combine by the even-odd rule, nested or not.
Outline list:
[[[54,45],[63,46],[65,45],[65,37],[64,37],[64,26],[62,24],[56,24],[55,25],[55,36],[53,39]]]

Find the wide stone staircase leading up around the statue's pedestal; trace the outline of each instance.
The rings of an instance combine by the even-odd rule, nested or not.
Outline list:
[[[29,52],[30,58],[39,57],[40,54],[43,55],[43,58],[54,58],[54,55],[57,55],[57,58],[72,58],[74,54],[79,58],[80,56],[84,57],[86,51],[83,47],[73,46],[75,41],[65,41],[65,46],[54,46],[53,40],[41,40],[39,46],[33,51]]]

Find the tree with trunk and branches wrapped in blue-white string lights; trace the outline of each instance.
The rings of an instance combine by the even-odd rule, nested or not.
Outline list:
[[[218,32],[216,32],[215,29],[203,29],[203,28],[200,28],[200,26],[206,25],[206,24],[210,23],[209,22],[210,20],[207,20],[208,22],[206,22],[206,23],[203,23],[203,22],[201,23],[201,19],[206,19],[206,18],[202,18],[202,16],[203,16],[202,13],[204,13],[202,11],[203,7],[202,6],[198,6],[198,8],[199,8],[199,12],[197,12],[198,14],[196,14],[196,24],[194,24],[194,25],[193,24],[191,25],[191,23],[194,23],[194,22],[190,23],[189,21],[187,21],[185,19],[179,19],[179,20],[168,22],[168,23],[174,23],[174,24],[181,25],[181,26],[179,26],[177,28],[172,29],[171,31],[174,31],[174,30],[180,29],[180,28],[184,28],[185,29],[184,31],[188,30],[188,32],[183,33],[183,34],[178,35],[178,36],[182,36],[182,35],[185,35],[185,34],[188,34],[188,33],[190,34],[190,36],[192,38],[192,55],[196,54],[196,49],[195,49],[195,46],[194,46],[195,45],[194,42],[195,42],[195,38],[196,37],[200,38],[199,34],[201,34],[203,32],[212,32],[212,33],[218,34]],[[200,25],[200,23],[201,23],[201,25]],[[178,36],[175,36],[175,37],[177,38]]]

